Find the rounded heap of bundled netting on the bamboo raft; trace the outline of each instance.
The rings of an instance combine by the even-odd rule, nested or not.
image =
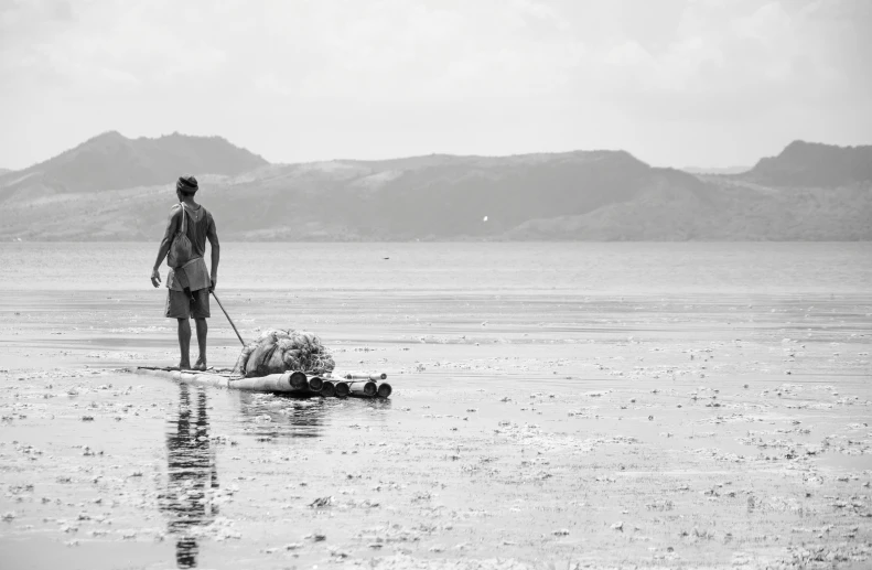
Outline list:
[[[297,370],[325,375],[332,373],[335,366],[330,351],[313,333],[270,329],[243,348],[234,373],[246,377]]]

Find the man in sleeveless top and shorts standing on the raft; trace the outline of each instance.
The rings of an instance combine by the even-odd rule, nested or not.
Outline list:
[[[194,176],[182,176],[176,182],[175,195],[179,197],[179,204],[173,206],[170,212],[166,232],[163,235],[160,249],[158,249],[158,260],[154,261],[154,269],[151,271],[151,284],[158,287],[161,282],[158,269],[170,251],[173,238],[182,229],[182,216],[187,216],[185,234],[191,240],[194,257],[180,268],[171,268],[166,275],[166,310],[164,311],[164,316],[179,321],[179,348],[182,353],[182,358],[179,362],[180,370],[206,369],[206,334],[208,333],[206,319],[209,318],[209,293],[218,281],[218,260],[220,258],[218,234],[215,230],[215,221],[212,214],[194,201],[198,189],[197,180]],[[212,246],[211,273],[207,272],[206,261],[203,259],[206,252],[206,239]],[[200,356],[193,368],[189,355],[191,348],[189,319],[192,316],[196,322],[197,345],[200,346]]]

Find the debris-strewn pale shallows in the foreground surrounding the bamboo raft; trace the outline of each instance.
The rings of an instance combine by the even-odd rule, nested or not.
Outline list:
[[[302,323],[342,369],[386,372],[388,401],[122,374],[177,357],[162,291],[8,291],[0,559],[866,568],[872,295],[858,262],[832,287],[758,293],[741,276],[621,294],[475,279],[219,289],[246,338]],[[211,323],[211,363],[233,362],[217,305]]]

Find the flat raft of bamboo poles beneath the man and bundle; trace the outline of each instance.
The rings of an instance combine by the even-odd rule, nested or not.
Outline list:
[[[386,381],[386,374],[347,374],[334,378],[332,376],[306,376],[301,372],[270,374],[257,378],[245,378],[229,370],[177,370],[153,366],[138,366],[127,372],[159,376],[172,380],[198,386],[215,386],[230,390],[292,394],[298,396],[321,396],[325,398],[388,398],[394,389]],[[369,378],[378,378],[376,381]]]

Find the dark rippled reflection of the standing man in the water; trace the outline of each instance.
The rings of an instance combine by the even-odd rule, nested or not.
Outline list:
[[[175,535],[175,560],[179,568],[196,568],[197,541],[193,530],[208,525],[218,514],[206,493],[218,487],[215,452],[209,445],[206,392],[197,390],[196,415],[192,418],[190,387],[179,385],[179,418],[175,431],[166,437],[166,493],[160,496],[161,510],[169,518],[169,531]]]

